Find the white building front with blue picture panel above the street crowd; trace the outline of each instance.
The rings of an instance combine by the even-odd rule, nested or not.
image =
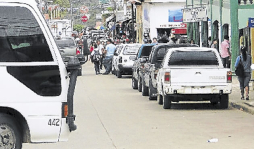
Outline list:
[[[150,38],[158,38],[162,34],[170,36],[171,30],[183,27],[182,9],[185,0],[151,0],[143,2],[143,33]]]

